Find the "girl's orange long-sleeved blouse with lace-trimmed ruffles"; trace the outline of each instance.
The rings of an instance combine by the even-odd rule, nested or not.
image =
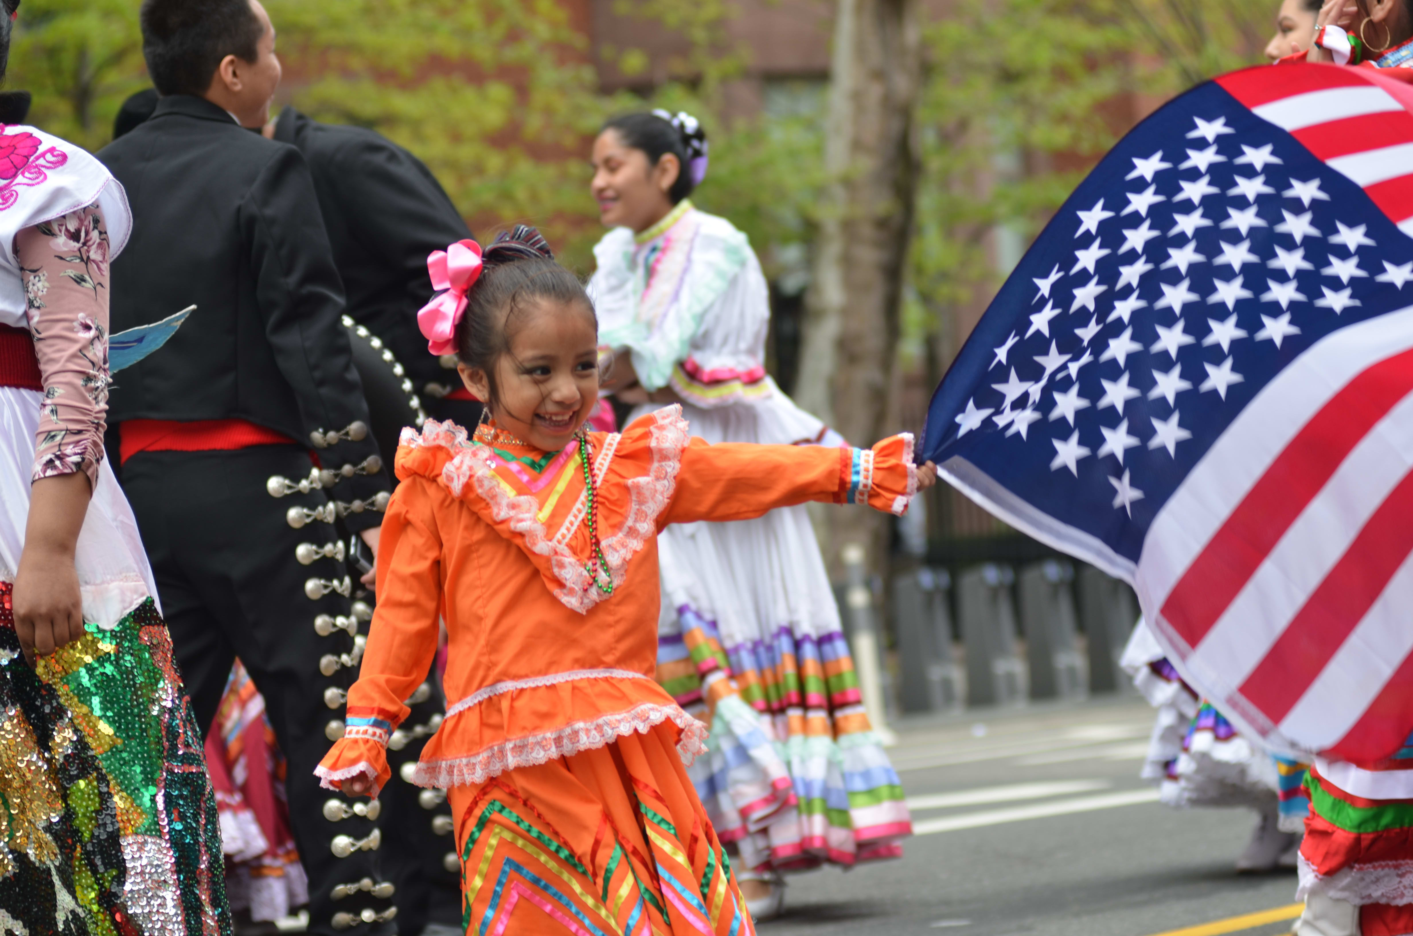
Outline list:
[[[664,723],[691,762],[706,727],[653,679],[657,532],[807,501],[901,515],[917,492],[907,434],[872,450],[709,445],[691,438],[681,407],[671,406],[622,434],[588,440],[612,594],[589,564],[578,443],[545,457],[527,445],[472,441],[452,423],[403,431],[401,485],[377,557],[377,611],[349,690],[345,735],[317,768],[324,786],[357,775],[379,788],[387,782],[387,739],[432,663],[438,618],[449,639],[447,718],[413,782],[478,785]]]

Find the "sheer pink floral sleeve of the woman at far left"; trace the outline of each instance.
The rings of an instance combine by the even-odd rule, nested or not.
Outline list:
[[[88,474],[97,484],[107,413],[107,226],[97,205],[16,238],[30,334],[44,376],[32,479]]]

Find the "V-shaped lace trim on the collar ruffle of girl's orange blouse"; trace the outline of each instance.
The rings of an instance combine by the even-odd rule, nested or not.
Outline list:
[[[629,491],[627,516],[619,532],[602,542],[603,558],[608,560],[609,566],[609,580],[615,588],[623,584],[629,560],[643,549],[643,543],[657,536],[657,516],[667,508],[673,491],[677,488],[682,448],[691,438],[687,420],[682,419],[682,407],[675,404],[653,413],[653,427],[649,433],[653,452],[650,471],[646,476],[629,478],[625,482]],[[564,607],[586,614],[593,605],[609,597],[595,587],[595,577],[585,570],[584,560],[569,551],[564,543],[545,537],[544,525],[536,519],[540,502],[528,495],[510,496],[506,493],[496,478],[490,455],[485,447],[468,441],[466,430],[455,423],[427,420],[420,434],[413,428],[404,428],[401,444],[413,448],[441,445],[455,452],[442,468],[442,482],[458,498],[462,496],[466,482],[472,482],[476,492],[490,505],[492,516],[496,517],[497,523],[509,520],[510,529],[524,537],[526,546],[531,551],[550,557],[550,568],[564,585],[555,590],[554,597]],[[613,438],[612,444],[616,447],[617,438]],[[608,451],[612,450],[605,445],[605,452]],[[593,469],[598,475],[599,465],[595,465]],[[596,574],[598,577],[603,575],[602,571]]]

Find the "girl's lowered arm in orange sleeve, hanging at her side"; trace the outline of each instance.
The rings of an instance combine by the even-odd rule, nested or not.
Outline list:
[[[377,609],[359,679],[349,689],[343,737],[315,769],[328,789],[377,796],[390,771],[387,738],[437,655],[441,536],[435,484],[411,476],[387,505],[377,551]]]

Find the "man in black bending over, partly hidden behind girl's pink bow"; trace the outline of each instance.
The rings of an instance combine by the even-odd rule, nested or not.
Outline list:
[[[285,107],[264,134],[295,147],[309,164],[348,315],[394,355],[435,419],[475,426],[480,404],[447,396],[462,389],[456,372],[427,352],[417,328],[417,310],[432,296],[427,255],[471,238],[445,189],[421,160],[373,130],[319,123]],[[417,762],[445,711],[434,679],[428,683],[428,698],[413,707],[401,737],[389,745],[394,773]],[[394,776],[379,799],[383,868],[397,885],[401,936],[459,933],[461,864],[445,797]]]

